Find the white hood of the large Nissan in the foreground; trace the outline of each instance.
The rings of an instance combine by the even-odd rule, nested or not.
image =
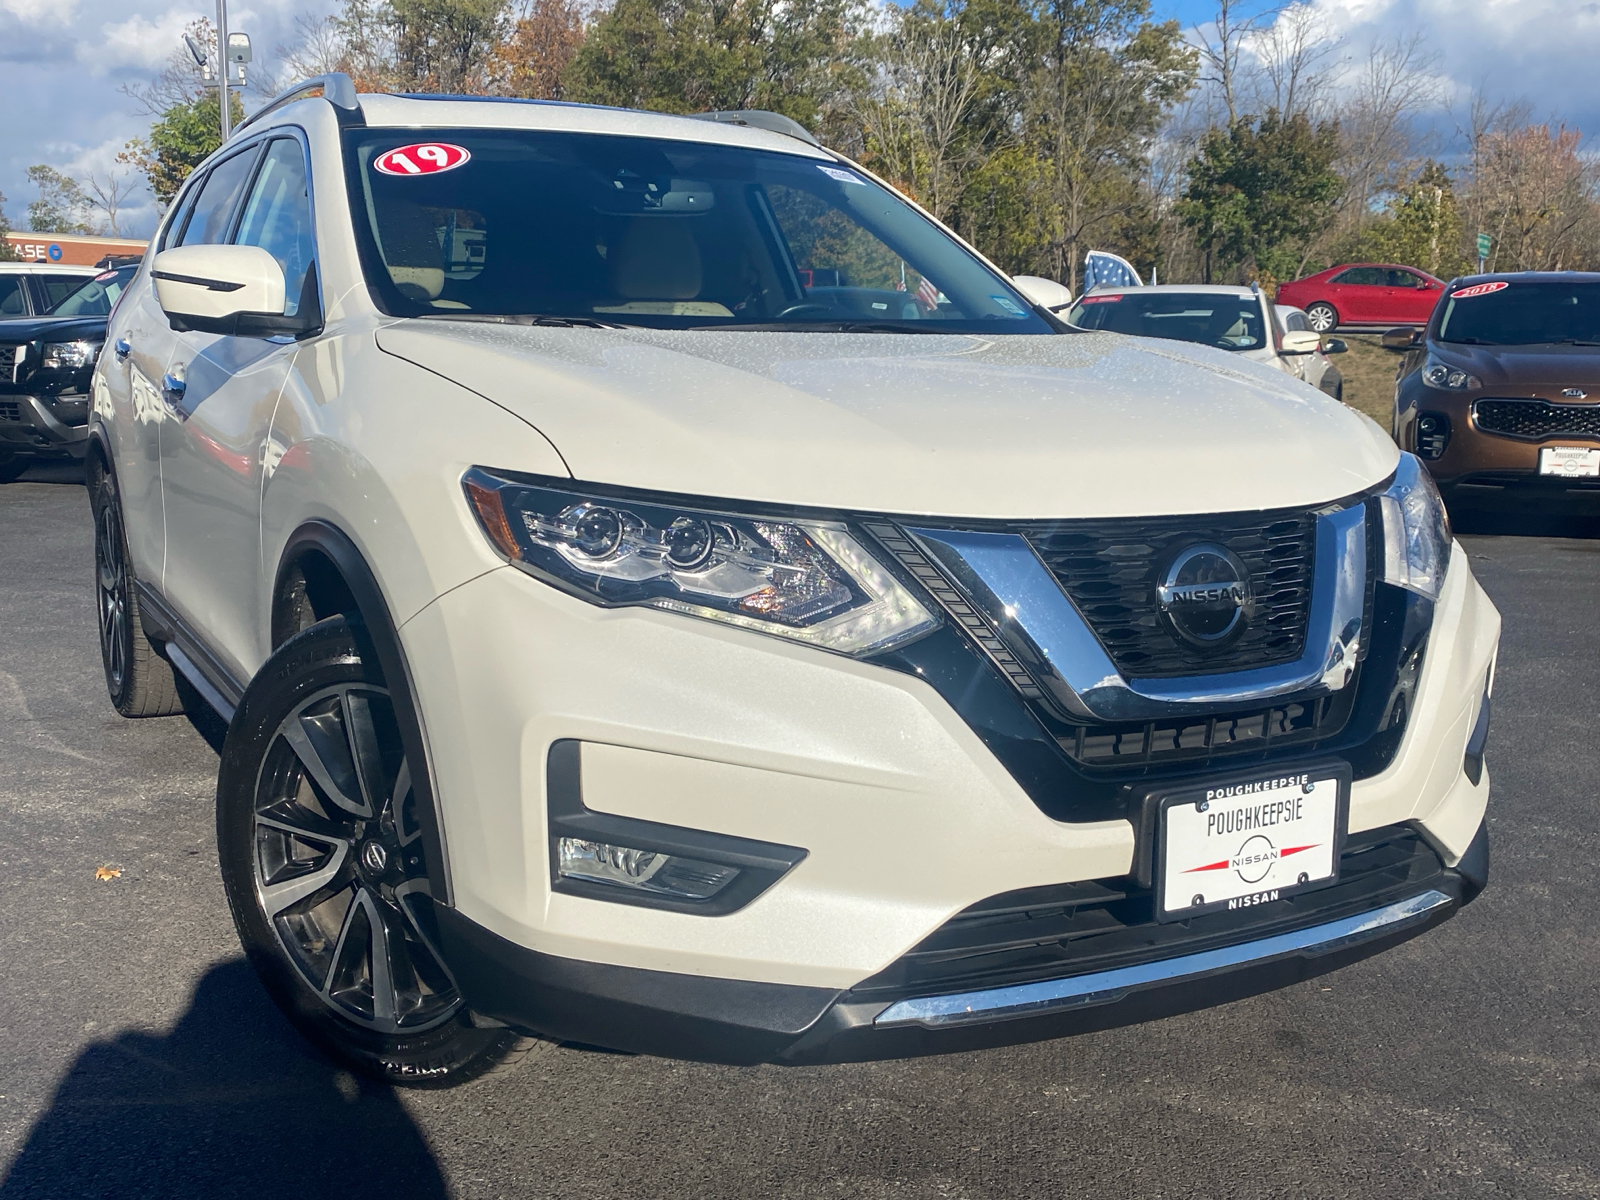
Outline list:
[[[982,518],[1232,512],[1347,496],[1398,456],[1272,366],[1120,334],[424,318],[378,344],[522,416],[581,480],[690,496]]]

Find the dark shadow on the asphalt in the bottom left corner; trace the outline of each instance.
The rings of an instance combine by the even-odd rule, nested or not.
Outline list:
[[[302,1042],[243,960],[171,1032],[85,1048],[0,1179],[3,1200],[446,1194],[394,1090]]]

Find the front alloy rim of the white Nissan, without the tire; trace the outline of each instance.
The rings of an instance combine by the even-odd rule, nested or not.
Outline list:
[[[256,786],[256,899],[323,1005],[381,1034],[432,1029],[462,1003],[421,834],[384,688],[325,688],[278,725]]]

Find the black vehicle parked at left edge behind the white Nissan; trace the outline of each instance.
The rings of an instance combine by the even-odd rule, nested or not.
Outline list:
[[[35,462],[83,461],[90,376],[138,264],[102,270],[43,317],[0,322],[0,483]]]

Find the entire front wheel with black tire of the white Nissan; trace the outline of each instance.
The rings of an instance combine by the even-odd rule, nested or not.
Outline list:
[[[238,939],[288,1019],[357,1070],[442,1088],[530,1042],[474,1026],[437,949],[410,779],[365,627],[320,621],[267,659],[234,715],[218,856]]]

